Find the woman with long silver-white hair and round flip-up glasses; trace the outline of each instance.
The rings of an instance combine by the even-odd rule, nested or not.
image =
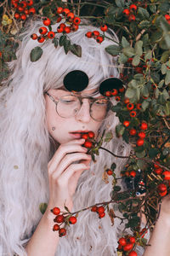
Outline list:
[[[111,178],[108,183],[102,178],[105,166],[115,162],[119,177],[126,163],[100,149],[94,163],[78,132],[94,131],[98,139],[104,130],[111,131],[113,139],[104,142],[104,148],[123,156],[132,149],[122,137],[116,137],[119,120],[115,113],[101,116],[91,111],[90,102],[104,98],[99,85],[105,79],[119,78],[119,72],[117,57],[105,52],[106,46],[116,43],[105,38],[97,44],[94,38],[85,37],[98,28],[84,23],[69,34],[73,44],[81,45],[81,58],[71,52],[65,55],[63,47],[54,48],[50,39],[42,44],[32,40],[31,34],[42,26],[42,20],[35,20],[28,22],[20,35],[17,60],[8,63],[10,75],[0,90],[1,255],[116,255],[124,230],[119,218],[111,225],[108,214],[99,219],[90,210],[80,212],[77,224],[67,228],[65,237],[59,237],[53,231],[54,214],[50,212],[54,207],[65,211],[64,206],[74,212],[110,200]],[[56,26],[59,24],[52,26],[53,31]],[[118,42],[113,31],[105,35]],[[30,53],[36,46],[43,53],[32,62]],[[88,77],[88,85],[74,93],[65,89],[64,80],[77,70]],[[68,95],[82,97],[74,114],[62,107]],[[116,103],[114,97],[109,101]],[[48,204],[43,215],[39,210],[42,202]]]

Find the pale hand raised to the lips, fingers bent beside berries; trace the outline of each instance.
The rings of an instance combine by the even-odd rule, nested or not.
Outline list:
[[[48,162],[48,209],[59,207],[65,211],[65,205],[71,211],[78,179],[84,170],[89,169],[91,161],[91,155],[86,154],[88,149],[82,147],[84,141],[79,139],[60,144]],[[75,161],[79,163],[73,163]]]

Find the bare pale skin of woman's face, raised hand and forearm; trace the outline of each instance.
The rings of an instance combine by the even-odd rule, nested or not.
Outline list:
[[[86,89],[81,95],[90,95],[94,91]],[[48,93],[54,98],[68,94],[65,90],[48,90]],[[48,208],[26,245],[28,256],[54,256],[60,238],[58,232],[53,231],[54,214],[50,210],[59,207],[61,211],[65,211],[66,206],[71,211],[72,196],[77,188],[78,179],[82,172],[88,172],[90,167],[91,156],[87,154],[88,149],[82,147],[85,140],[72,138],[69,132],[94,131],[96,138],[102,125],[102,122],[91,118],[88,98],[82,99],[79,112],[69,119],[63,119],[56,113],[55,104],[47,95],[45,101],[48,131],[54,137],[58,148],[48,162]],[[54,131],[52,127],[55,127]],[[79,162],[74,164],[75,161]]]

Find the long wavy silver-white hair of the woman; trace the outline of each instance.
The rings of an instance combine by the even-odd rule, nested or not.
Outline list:
[[[105,52],[106,46],[115,43],[105,38],[102,44],[97,44],[93,38],[86,38],[86,32],[97,28],[89,22],[83,23],[86,24],[77,32],[69,34],[72,43],[82,46],[81,58],[71,52],[65,55],[63,47],[55,49],[50,39],[42,44],[32,40],[31,34],[38,33],[42,26],[42,21],[36,20],[28,22],[20,35],[17,60],[8,62],[10,75],[0,90],[0,253],[4,255],[27,255],[26,243],[42,218],[39,205],[49,199],[48,161],[57,148],[48,133],[44,91],[59,89],[65,74],[75,69],[88,74],[91,89],[99,87],[103,79],[119,77],[116,57]],[[53,31],[57,26],[52,26]],[[106,35],[118,42],[111,30]],[[31,49],[36,46],[42,47],[42,57],[31,62]],[[104,129],[112,131],[113,139],[103,147],[125,156],[131,147],[116,137],[118,122],[113,113],[102,124],[100,134]],[[73,211],[111,198],[111,179],[109,183],[102,179],[104,167],[115,162],[118,177],[125,160],[113,159],[102,150],[96,160],[78,181]],[[55,255],[116,255],[122,230],[119,219],[112,226],[108,216],[99,219],[94,212],[82,212],[77,224],[68,228],[67,235],[60,239]]]

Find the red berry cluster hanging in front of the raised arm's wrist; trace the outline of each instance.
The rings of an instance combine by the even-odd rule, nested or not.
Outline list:
[[[59,231],[60,237],[66,235],[65,228],[60,228],[61,224],[63,224],[63,223],[76,224],[77,223],[77,218],[75,216],[71,216],[70,214],[68,214],[67,216],[64,216],[63,214],[59,214],[60,213],[59,207],[54,207],[53,209],[51,209],[51,212],[53,212],[54,215],[56,215],[56,217],[54,218],[54,222],[57,223],[57,224],[54,224],[53,230]]]

